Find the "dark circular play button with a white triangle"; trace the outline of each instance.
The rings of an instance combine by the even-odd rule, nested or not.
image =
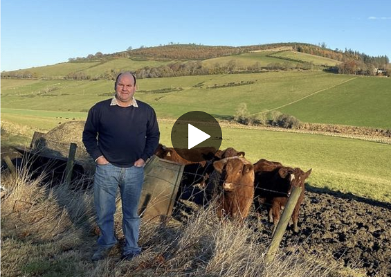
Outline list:
[[[183,159],[200,162],[219,150],[223,136],[217,120],[203,111],[190,111],[175,121],[171,131],[174,150]]]

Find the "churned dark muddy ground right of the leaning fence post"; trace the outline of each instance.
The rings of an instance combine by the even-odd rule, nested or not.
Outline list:
[[[309,253],[329,253],[364,269],[368,276],[391,276],[391,204],[307,191],[299,228],[298,234],[287,231],[285,247],[300,244]],[[270,240],[271,226],[266,230],[264,238]]]

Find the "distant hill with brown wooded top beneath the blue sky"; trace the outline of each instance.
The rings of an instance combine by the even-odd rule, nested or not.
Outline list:
[[[286,50],[281,51],[281,49]],[[316,55],[304,55],[304,52],[300,52],[309,51],[308,49],[317,49],[317,51],[312,51]],[[237,71],[255,72],[260,69],[288,69],[287,66],[289,68],[307,69],[311,68],[311,66],[308,66],[309,64],[316,66],[335,66],[338,64],[338,60],[331,59],[333,55],[329,54],[330,51],[322,49],[320,46],[298,43],[238,47],[170,44],[106,55],[96,53],[87,57],[71,58],[69,62],[60,64],[19,69],[17,71],[3,71],[1,78],[112,80],[116,73],[124,70],[137,71],[138,78],[205,75],[232,72],[233,69],[228,64],[231,60],[236,64],[234,70]],[[327,57],[321,57],[322,55]],[[334,55],[339,60],[341,56],[343,54]],[[194,64],[189,63],[190,61],[203,61],[202,66],[204,68],[200,70],[199,64],[192,66]],[[219,63],[218,71],[213,67],[216,63]],[[269,66],[271,64],[272,67]],[[169,65],[169,69],[162,67],[167,65]],[[323,68],[320,67],[320,69]],[[148,71],[148,74],[140,72],[142,70]],[[150,73],[152,70],[159,71],[160,74],[159,72]],[[167,75],[167,71],[173,71],[173,73]]]

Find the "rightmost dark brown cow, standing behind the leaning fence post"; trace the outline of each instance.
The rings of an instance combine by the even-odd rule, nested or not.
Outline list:
[[[293,210],[293,231],[298,232],[298,215],[304,199],[304,181],[311,174],[311,169],[303,172],[300,168],[282,166],[281,163],[262,161],[255,172],[255,204],[264,204],[269,209],[269,222],[273,223],[273,233],[280,220],[280,211],[287,205],[294,186],[302,191]],[[262,171],[263,170],[263,171]],[[256,205],[257,206],[257,205]],[[259,210],[258,210],[259,211]]]

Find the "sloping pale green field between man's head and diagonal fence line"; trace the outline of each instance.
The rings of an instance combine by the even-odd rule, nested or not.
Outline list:
[[[201,79],[201,87],[184,87],[182,78],[170,78],[172,87],[183,87],[183,91],[172,93],[144,93],[141,99],[155,105],[162,116],[201,110],[217,117],[232,116],[241,102],[247,104],[251,113],[273,109],[288,102],[300,99],[319,89],[340,84],[352,78],[347,75],[334,75],[319,72],[281,72],[206,76]],[[163,82],[163,80],[161,81]],[[236,87],[219,87],[243,83]],[[246,84],[247,82],[253,82]],[[162,87],[164,84],[161,84]],[[170,87],[170,84],[165,84]]]

